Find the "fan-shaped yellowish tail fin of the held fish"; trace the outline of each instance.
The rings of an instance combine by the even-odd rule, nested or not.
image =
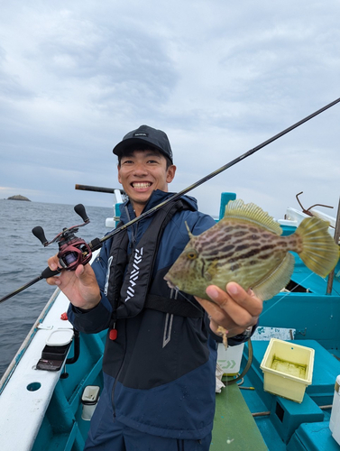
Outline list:
[[[306,217],[295,232],[302,239],[301,260],[321,277],[326,277],[339,260],[339,247],[329,235],[328,226],[318,217]]]

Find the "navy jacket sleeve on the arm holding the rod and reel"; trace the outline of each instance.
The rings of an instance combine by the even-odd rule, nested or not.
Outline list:
[[[69,321],[79,332],[96,334],[110,326],[112,307],[105,294],[107,260],[110,247],[111,240],[108,240],[92,263],[96,281],[100,288],[101,300],[99,304],[95,308],[88,310],[69,304]]]

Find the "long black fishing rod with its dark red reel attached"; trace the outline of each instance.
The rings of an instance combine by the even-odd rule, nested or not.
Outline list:
[[[288,128],[285,128],[284,130],[282,130],[282,132],[275,134],[274,136],[272,136],[268,140],[264,141],[263,143],[257,145],[256,147],[249,150],[248,152],[244,152],[239,157],[235,158],[232,161],[229,161],[224,166],[221,166],[221,168],[214,170],[207,176],[203,177],[203,179],[199,179],[192,185],[188,186],[188,188],[182,189],[178,193],[173,194],[172,196],[170,196],[169,198],[167,198],[160,204],[158,204],[155,207],[152,207],[150,210],[142,213],[142,215],[135,217],[133,220],[129,221],[128,223],[124,224],[123,226],[116,228],[111,233],[103,236],[102,238],[95,238],[90,243],[86,243],[84,240],[82,240],[81,238],[78,238],[76,235],[74,235],[78,231],[79,226],[85,226],[89,222],[89,219],[87,218],[86,214],[85,214],[85,216],[82,216],[83,215],[82,209],[84,207],[81,206],[80,204],[75,207],[75,211],[76,211],[76,213],[78,213],[79,216],[83,217],[84,224],[79,225],[79,226],[73,226],[73,227],[70,227],[69,229],[66,229],[66,228],[63,229],[63,232],[61,232],[59,235],[57,235],[51,242],[48,242],[46,240],[46,238],[43,234],[43,231],[41,234],[41,230],[42,230],[41,227],[35,227],[35,229],[33,229],[32,232],[34,235],[36,235],[41,240],[41,243],[44,246],[49,245],[54,242],[59,243],[60,252],[58,253],[58,257],[60,259],[61,266],[63,267],[63,269],[66,269],[69,271],[74,271],[74,270],[76,270],[78,264],[86,264],[87,262],[89,262],[92,253],[94,251],[96,251],[97,249],[100,249],[103,246],[103,244],[106,242],[106,240],[112,238],[114,235],[118,234],[119,232],[124,231],[127,227],[133,226],[133,224],[136,224],[137,222],[141,221],[144,217],[151,216],[155,211],[159,210],[161,207],[164,207],[165,205],[169,204],[170,202],[178,200],[179,198],[181,198],[182,196],[187,194],[192,189],[198,188],[200,185],[205,183],[207,180],[212,179],[213,177],[220,174],[224,170],[231,168],[232,166],[234,166],[234,164],[253,155],[253,153],[258,152],[263,147],[278,140],[284,134],[291,132],[295,128],[299,127],[299,125],[305,124],[313,117],[320,115],[321,113],[326,111],[328,108],[335,106],[339,102],[340,102],[340,97],[337,98],[336,100],[334,100],[333,102],[327,104],[326,106],[323,106],[322,108],[318,109],[311,115],[306,116],[304,119],[301,119],[299,122],[290,125]],[[78,211],[76,210],[76,208],[78,209]],[[85,211],[85,208],[84,208],[84,211]],[[34,233],[34,230],[35,230],[35,233]],[[48,279],[49,277],[53,277],[53,276],[59,274],[61,271],[62,270],[51,271],[51,269],[49,267],[45,268],[45,270],[43,272],[41,272],[40,276],[36,277],[32,281],[29,281],[28,283],[23,285],[23,287],[21,287],[17,290],[14,290],[12,293],[6,295],[4,298],[1,298],[0,303],[4,302],[7,299],[14,297],[16,294],[20,293],[21,291],[26,290],[26,288],[31,287],[34,283],[41,281],[42,279]]]

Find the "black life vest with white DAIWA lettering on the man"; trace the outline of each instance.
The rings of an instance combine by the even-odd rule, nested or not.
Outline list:
[[[161,235],[171,217],[183,209],[192,209],[184,199],[170,202],[157,210],[151,225],[130,255],[127,253],[127,230],[114,235],[106,277],[106,296],[114,309],[112,325],[116,319],[135,317],[142,308],[190,318],[204,316],[204,310],[192,296],[186,295],[189,302],[183,298],[164,297],[164,293],[170,292],[170,289],[163,277],[170,268],[163,268],[152,278]]]

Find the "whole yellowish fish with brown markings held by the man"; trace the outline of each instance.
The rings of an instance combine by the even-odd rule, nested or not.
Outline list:
[[[208,285],[225,290],[228,281],[252,288],[260,299],[271,299],[293,272],[295,260],[289,251],[299,253],[321,277],[335,268],[339,248],[328,226],[308,217],[293,235],[280,236],[280,225],[268,213],[236,199],[227,204],[225,216],[215,226],[198,236],[188,231],[190,241],[164,279],[171,288],[203,299],[208,299]]]

